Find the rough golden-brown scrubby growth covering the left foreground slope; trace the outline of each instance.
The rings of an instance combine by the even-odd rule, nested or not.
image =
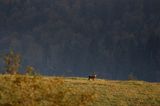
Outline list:
[[[63,78],[0,76],[0,106],[84,106],[94,98],[92,88],[79,91],[65,84]]]

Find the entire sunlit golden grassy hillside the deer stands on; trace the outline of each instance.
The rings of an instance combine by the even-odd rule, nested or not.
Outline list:
[[[160,83],[0,75],[0,106],[160,106]]]

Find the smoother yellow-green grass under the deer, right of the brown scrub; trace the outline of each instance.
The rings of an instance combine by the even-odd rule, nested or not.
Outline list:
[[[93,106],[160,106],[160,83],[144,81],[112,81],[66,79],[69,86],[79,89],[94,86],[98,95]]]

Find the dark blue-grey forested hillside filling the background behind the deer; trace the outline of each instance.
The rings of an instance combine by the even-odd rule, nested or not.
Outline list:
[[[127,79],[133,73],[160,81],[159,5],[159,0],[0,0],[0,52],[12,48],[22,54],[22,65],[49,75],[96,72]]]

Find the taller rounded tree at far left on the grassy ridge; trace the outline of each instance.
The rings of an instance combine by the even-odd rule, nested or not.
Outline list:
[[[21,56],[18,53],[10,51],[4,56],[5,70],[8,74],[17,74],[20,68]]]

